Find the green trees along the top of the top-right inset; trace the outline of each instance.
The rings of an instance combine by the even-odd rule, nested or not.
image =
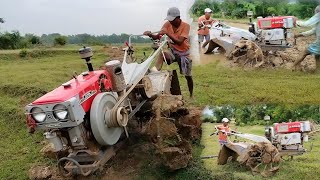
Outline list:
[[[255,17],[292,15],[305,19],[314,15],[317,5],[319,0],[196,0],[191,12],[201,16],[205,8],[211,8],[216,18],[246,18],[247,11],[253,11]]]

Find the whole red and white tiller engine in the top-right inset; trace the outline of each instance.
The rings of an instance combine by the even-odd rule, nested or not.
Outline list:
[[[249,31],[256,35],[256,42],[262,49],[289,48],[294,43],[292,32],[292,28],[296,26],[294,16],[258,17],[257,23],[250,23]]]

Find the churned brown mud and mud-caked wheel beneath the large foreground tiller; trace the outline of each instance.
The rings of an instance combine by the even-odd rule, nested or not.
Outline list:
[[[187,167],[192,159],[192,142],[201,137],[201,110],[184,107],[182,96],[160,96],[147,104],[129,122],[130,138],[100,171],[89,177],[69,179],[134,179],[148,168],[163,167],[172,172]],[[54,147],[43,142],[40,153],[55,159]],[[30,179],[64,179],[56,166],[35,166]],[[68,179],[68,178],[67,178]]]

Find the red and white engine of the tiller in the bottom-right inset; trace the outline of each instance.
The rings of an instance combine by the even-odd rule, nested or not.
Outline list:
[[[265,129],[265,135],[275,145],[281,155],[299,155],[306,152],[304,142],[311,131],[309,121],[275,123]]]

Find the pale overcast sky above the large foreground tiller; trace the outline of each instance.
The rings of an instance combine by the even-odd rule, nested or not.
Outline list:
[[[159,30],[167,9],[180,8],[183,19],[194,0],[1,0],[0,31],[37,35],[89,33],[141,34]]]

